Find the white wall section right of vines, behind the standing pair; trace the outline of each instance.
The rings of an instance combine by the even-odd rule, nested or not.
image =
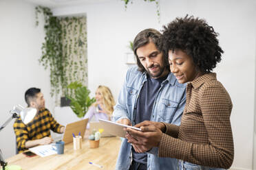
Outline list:
[[[123,1],[55,8],[57,16],[87,14],[88,79],[94,92],[98,84],[111,88],[117,99],[127,66],[129,40],[140,30],[161,29],[176,16],[193,14],[206,19],[220,33],[224,49],[215,71],[233,101],[231,123],[235,142],[233,169],[253,169],[253,115],[255,104],[255,16],[253,0],[160,1],[158,23],[154,3],[134,1],[125,11]]]

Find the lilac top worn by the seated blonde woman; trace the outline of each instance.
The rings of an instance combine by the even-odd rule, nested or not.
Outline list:
[[[100,106],[98,106],[99,110],[102,110]],[[85,114],[84,119],[89,118],[89,121],[98,121],[98,119],[104,119],[104,120],[109,120],[109,117],[107,116],[106,113],[104,112],[97,112],[95,106],[91,106],[87,113]],[[89,128],[89,121],[87,123],[87,129]]]

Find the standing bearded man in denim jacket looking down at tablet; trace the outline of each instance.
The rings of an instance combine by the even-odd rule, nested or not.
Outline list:
[[[162,52],[162,34],[145,29],[134,39],[137,65],[127,71],[125,84],[114,108],[114,121],[136,125],[142,121],[161,121],[180,125],[186,101],[186,84],[179,84],[170,73],[167,55]],[[177,160],[159,158],[158,148],[138,153],[136,145],[122,139],[116,169],[176,169]]]

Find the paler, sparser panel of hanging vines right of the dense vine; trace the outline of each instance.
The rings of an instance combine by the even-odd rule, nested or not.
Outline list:
[[[61,19],[63,56],[67,58],[64,71],[67,84],[83,82],[87,84],[87,31],[86,18],[65,17]],[[69,90],[67,88],[66,90]],[[65,94],[68,93],[65,91]]]

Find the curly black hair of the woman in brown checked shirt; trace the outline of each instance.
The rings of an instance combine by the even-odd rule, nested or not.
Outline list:
[[[164,53],[176,49],[184,51],[193,58],[194,64],[202,73],[211,72],[217,62],[222,60],[224,51],[217,40],[219,34],[204,19],[186,15],[184,18],[176,18],[163,28]]]

